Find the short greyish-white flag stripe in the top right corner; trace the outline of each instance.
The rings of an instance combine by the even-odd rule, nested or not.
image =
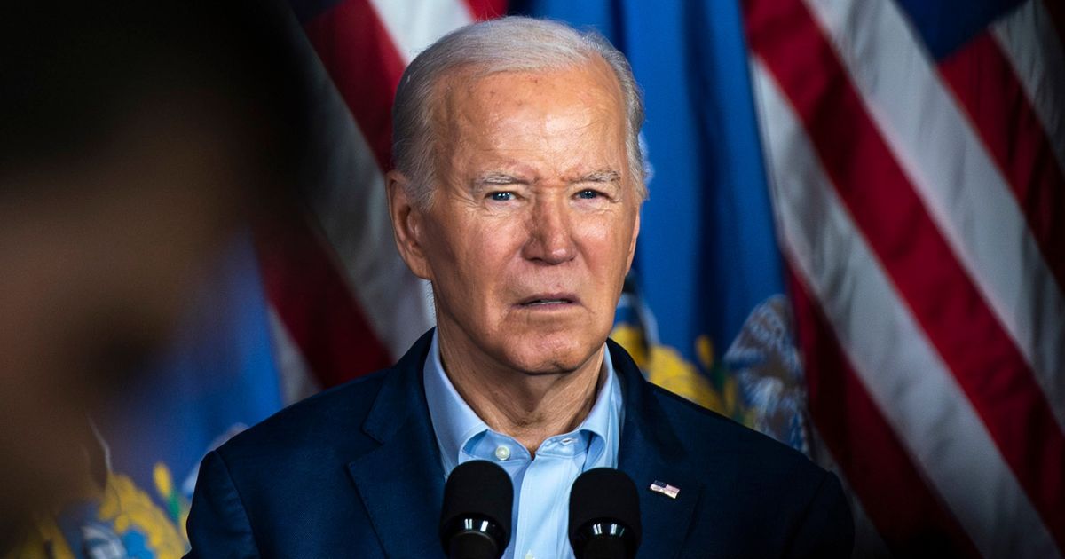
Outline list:
[[[1065,50],[1046,6],[1042,0],[1028,0],[992,29],[1065,171]]]

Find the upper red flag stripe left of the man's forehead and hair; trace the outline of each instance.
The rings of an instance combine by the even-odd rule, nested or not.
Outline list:
[[[344,0],[304,26],[384,172],[392,165],[392,99],[404,61],[367,0]]]

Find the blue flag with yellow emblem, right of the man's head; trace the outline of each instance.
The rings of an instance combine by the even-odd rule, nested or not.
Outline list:
[[[650,199],[613,338],[649,378],[808,450],[739,5],[528,0],[590,27],[644,94]]]

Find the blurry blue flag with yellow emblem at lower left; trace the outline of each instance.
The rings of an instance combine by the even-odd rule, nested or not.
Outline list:
[[[144,382],[92,418],[85,494],[37,519],[13,557],[177,558],[203,455],[280,409],[255,252],[227,254]]]

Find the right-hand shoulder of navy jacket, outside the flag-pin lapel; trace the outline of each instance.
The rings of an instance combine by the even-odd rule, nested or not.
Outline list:
[[[847,557],[853,523],[838,479],[770,437],[659,388],[669,465],[697,486],[688,549],[730,557]],[[689,492],[690,494],[690,492]]]

